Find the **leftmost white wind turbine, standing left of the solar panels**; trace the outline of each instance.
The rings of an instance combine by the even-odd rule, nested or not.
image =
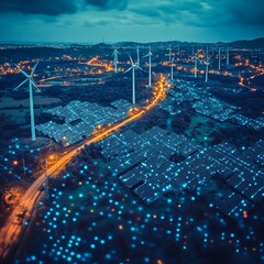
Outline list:
[[[33,89],[32,86],[37,90],[41,91],[35,81],[33,80],[33,75],[36,69],[38,62],[35,64],[33,69],[31,70],[31,74],[28,75],[23,69],[19,67],[19,65],[15,64],[15,66],[19,68],[19,70],[26,77],[24,81],[22,81],[19,86],[16,86],[13,90],[18,90],[22,85],[24,85],[26,81],[29,81],[29,90],[30,90],[30,113],[31,113],[31,138],[32,141],[35,141],[35,120],[34,120],[34,102],[33,102]]]

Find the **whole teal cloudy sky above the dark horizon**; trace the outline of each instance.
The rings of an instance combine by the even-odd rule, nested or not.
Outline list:
[[[0,26],[0,42],[250,40],[264,0],[1,0]]]

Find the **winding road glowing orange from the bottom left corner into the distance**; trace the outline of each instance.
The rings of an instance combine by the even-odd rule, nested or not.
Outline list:
[[[79,151],[86,145],[90,145],[92,143],[103,140],[114,131],[118,131],[128,123],[135,121],[136,119],[144,116],[145,112],[154,108],[160,101],[165,98],[166,87],[166,79],[164,76],[161,76],[160,80],[154,87],[153,98],[147,101],[146,106],[131,111],[130,117],[128,117],[127,119],[116,124],[112,124],[111,127],[107,127],[105,129],[96,131],[94,135],[91,135],[81,145],[77,146],[75,150],[64,155],[53,166],[47,168],[45,173],[40,175],[40,177],[25,191],[24,196],[21,198],[20,204],[13,209],[12,213],[7,219],[4,226],[0,230],[0,262],[1,260],[4,260],[18,244],[19,239],[21,238],[22,232],[26,227],[25,223],[30,221],[30,217],[32,215],[32,211],[34,210],[35,201],[41,194],[40,188],[44,185],[46,175],[52,176],[55,173],[58,174],[65,167],[65,165],[70,162],[70,160],[75,157],[79,153]],[[21,217],[18,217],[19,215],[21,215]]]

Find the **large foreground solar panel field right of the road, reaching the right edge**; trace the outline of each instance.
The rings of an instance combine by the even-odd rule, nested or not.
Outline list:
[[[198,150],[184,135],[154,127],[142,134],[127,130],[99,144],[112,175],[147,204],[168,191],[194,190],[216,174],[226,190],[213,205],[230,217],[250,210],[264,197],[264,141],[243,153],[228,143]],[[173,154],[186,158],[174,163]]]

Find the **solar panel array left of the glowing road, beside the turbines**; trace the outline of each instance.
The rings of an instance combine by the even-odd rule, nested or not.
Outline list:
[[[95,131],[98,124],[114,123],[128,116],[132,105],[125,100],[112,103],[114,108],[102,107],[97,103],[72,101],[66,107],[56,107],[46,112],[61,117],[65,123],[53,121],[36,125],[43,134],[62,142],[65,145],[76,143]],[[74,124],[75,121],[78,121]]]

